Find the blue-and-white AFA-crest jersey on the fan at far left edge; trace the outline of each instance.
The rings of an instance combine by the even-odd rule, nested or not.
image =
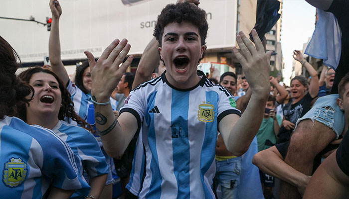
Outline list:
[[[16,117],[0,120],[1,198],[41,199],[50,185],[88,194],[80,168],[79,158],[51,130]]]

